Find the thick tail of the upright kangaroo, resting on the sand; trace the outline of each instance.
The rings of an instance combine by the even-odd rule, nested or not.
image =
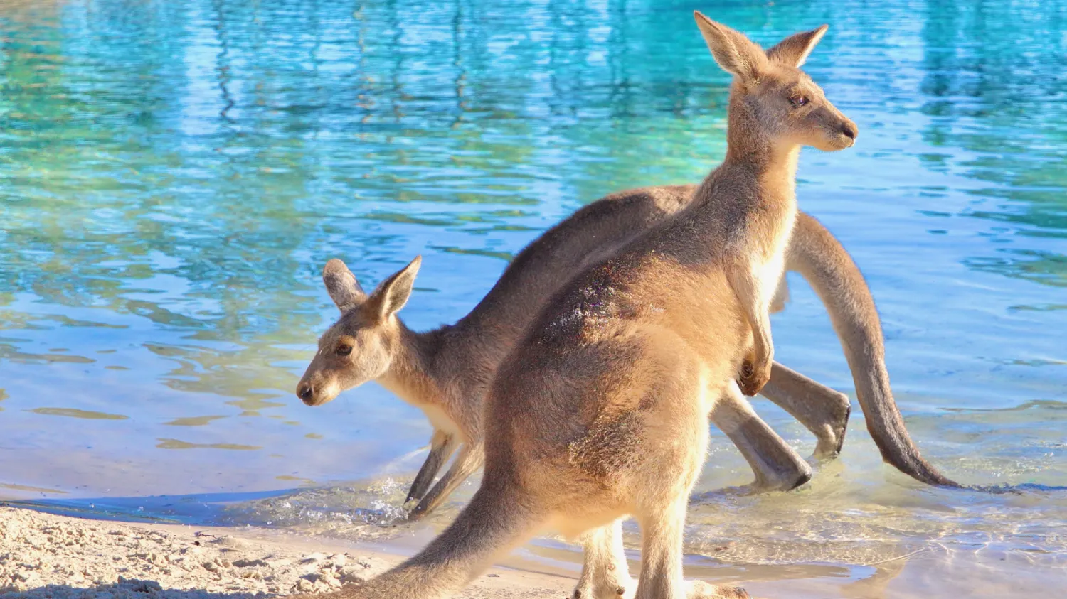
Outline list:
[[[478,577],[493,560],[537,531],[540,519],[516,486],[487,474],[463,512],[414,557],[337,599],[435,599]]]

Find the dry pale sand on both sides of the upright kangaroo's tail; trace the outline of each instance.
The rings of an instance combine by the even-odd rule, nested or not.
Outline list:
[[[252,529],[196,529],[0,507],[5,599],[223,599],[324,593],[396,564],[395,555]],[[330,541],[327,541],[329,545]],[[493,569],[461,597],[564,597],[573,580]]]

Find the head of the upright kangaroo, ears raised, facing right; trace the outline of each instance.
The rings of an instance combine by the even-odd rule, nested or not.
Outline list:
[[[715,62],[734,76],[730,128],[742,130],[734,132],[732,142],[774,149],[803,145],[826,151],[856,143],[856,124],[800,70],[827,26],[793,34],[764,52],[742,33],[699,12],[694,16]]]

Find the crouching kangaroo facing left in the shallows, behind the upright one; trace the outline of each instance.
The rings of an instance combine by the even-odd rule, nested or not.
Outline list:
[[[319,351],[297,394],[308,405],[321,405],[344,390],[377,381],[423,409],[434,432],[405,504],[412,518],[428,514],[480,467],[485,390],[500,360],[548,297],[589,265],[686,207],[696,189],[631,190],[582,208],[527,245],[466,317],[429,331],[413,331],[397,315],[411,293],[418,263],[393,274],[368,295],[344,262],[331,260],[323,281],[341,318],[320,337]],[[845,249],[814,217],[801,212],[785,265],[799,272],[826,305],[867,428],[883,459],[924,483],[957,486],[922,458],[904,426],[885,367],[875,304]],[[386,295],[392,300],[383,310]],[[815,457],[832,457],[841,450],[849,415],[844,394],[777,362],[762,394],[815,435]],[[746,406],[724,405],[712,418],[752,467],[754,490],[787,490],[810,477],[808,465]],[[433,485],[457,449],[459,456]]]

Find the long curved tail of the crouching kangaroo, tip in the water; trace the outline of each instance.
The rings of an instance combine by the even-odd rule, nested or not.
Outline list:
[[[871,290],[841,243],[808,214],[797,217],[787,268],[803,275],[830,312],[853,371],[867,431],[882,459],[917,481],[962,486],[923,459],[911,441],[889,385],[881,323]]]

